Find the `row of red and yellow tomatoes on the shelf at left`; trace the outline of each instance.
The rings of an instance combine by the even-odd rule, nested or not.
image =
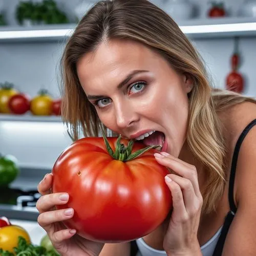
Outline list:
[[[47,90],[40,90],[31,98],[17,91],[12,83],[4,83],[0,88],[0,113],[22,115],[30,111],[33,115],[60,115],[61,99],[53,99]]]

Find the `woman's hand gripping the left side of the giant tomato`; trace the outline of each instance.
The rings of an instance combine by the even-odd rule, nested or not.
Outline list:
[[[55,205],[66,204],[69,195],[65,193],[51,194],[52,179],[53,176],[47,174],[37,187],[38,192],[42,195],[36,203],[36,208],[39,211],[38,224],[46,230],[53,246],[61,255],[98,256],[103,243],[84,239],[76,234],[76,230],[68,229],[61,222],[71,219],[74,209],[55,209]]]

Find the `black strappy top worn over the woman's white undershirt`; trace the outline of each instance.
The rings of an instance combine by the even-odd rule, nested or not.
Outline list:
[[[237,212],[237,207],[236,204],[234,203],[234,198],[233,198],[233,189],[234,189],[234,178],[236,177],[236,169],[237,169],[237,162],[238,162],[238,154],[240,151],[240,147],[242,145],[242,142],[247,135],[247,133],[251,130],[251,128],[256,125],[256,119],[251,121],[243,130],[241,135],[238,138],[238,141],[236,143],[236,146],[234,147],[234,153],[232,157],[232,162],[231,162],[231,169],[230,169],[230,178],[229,178],[229,185],[228,185],[228,201],[229,201],[229,212],[225,217],[225,221],[221,230],[221,234],[219,237],[219,240],[217,242],[217,245],[214,250],[214,254],[212,256],[221,256],[225,239],[227,236],[228,229],[232,223],[232,220],[234,218],[234,215]],[[136,244],[136,241],[131,242],[131,256],[136,256],[138,252],[138,246]]]

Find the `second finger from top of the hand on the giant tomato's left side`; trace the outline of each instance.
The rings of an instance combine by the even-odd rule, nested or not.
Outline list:
[[[66,204],[69,201],[69,194],[54,193],[41,196],[36,202],[37,210],[42,213],[51,210],[55,205]]]

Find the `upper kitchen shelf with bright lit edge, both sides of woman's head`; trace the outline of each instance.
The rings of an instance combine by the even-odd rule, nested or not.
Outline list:
[[[189,19],[177,22],[189,38],[256,36],[256,18],[223,17]],[[76,24],[0,28],[0,43],[5,41],[65,41]]]

